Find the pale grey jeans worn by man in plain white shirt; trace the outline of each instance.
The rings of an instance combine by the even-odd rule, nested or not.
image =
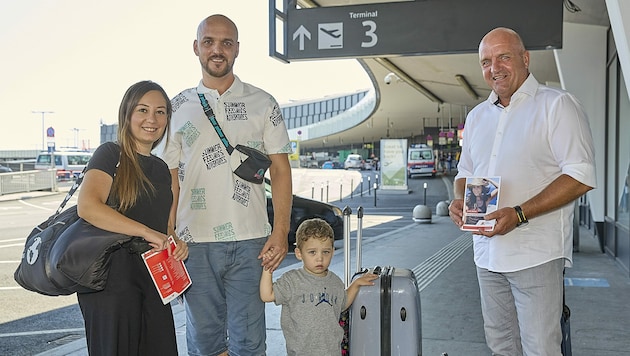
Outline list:
[[[560,356],[564,259],[522,271],[477,267],[486,343],[493,355]]]

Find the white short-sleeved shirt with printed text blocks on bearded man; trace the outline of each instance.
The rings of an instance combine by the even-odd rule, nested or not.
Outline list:
[[[204,114],[197,92],[205,96],[233,147],[241,144],[266,154],[292,152],[276,100],[238,77],[221,96],[200,82],[172,98],[169,137],[156,152],[170,169],[178,169],[178,236],[187,242],[268,236],[264,184],[233,174],[230,155]]]

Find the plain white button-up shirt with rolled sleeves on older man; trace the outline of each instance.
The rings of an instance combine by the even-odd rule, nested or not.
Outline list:
[[[498,208],[524,203],[562,174],[596,186],[591,131],[573,95],[530,74],[507,107],[497,102],[492,92],[468,114],[455,179],[500,176]],[[474,235],[475,264],[513,272],[565,258],[570,267],[573,212],[570,203],[506,235]]]

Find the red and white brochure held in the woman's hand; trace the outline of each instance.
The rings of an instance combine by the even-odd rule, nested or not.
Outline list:
[[[169,236],[168,242],[172,253],[176,247],[175,240]],[[184,261],[177,261],[172,255],[169,256],[167,250],[147,251],[142,254],[142,259],[165,305],[184,293],[192,284]]]

